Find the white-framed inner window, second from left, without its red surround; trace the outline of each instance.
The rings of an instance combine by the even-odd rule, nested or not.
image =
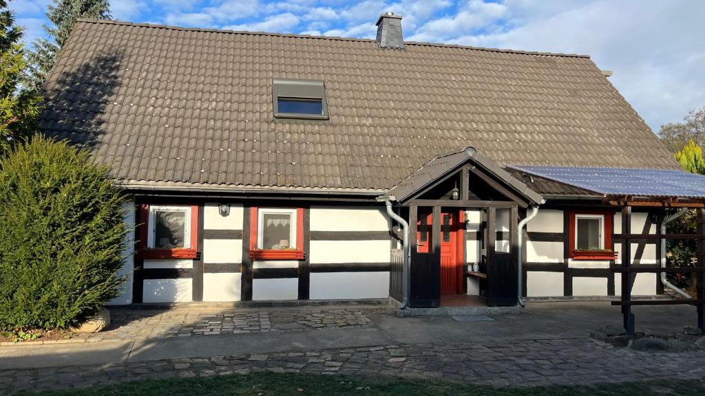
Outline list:
[[[296,209],[260,209],[257,248],[296,248]]]

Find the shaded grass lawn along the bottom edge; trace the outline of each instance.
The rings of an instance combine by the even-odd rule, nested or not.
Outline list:
[[[81,390],[42,392],[39,395],[705,395],[705,381],[669,380],[620,385],[492,388],[461,385],[445,380],[384,376],[316,376],[312,374],[253,373],[209,378],[146,380]]]

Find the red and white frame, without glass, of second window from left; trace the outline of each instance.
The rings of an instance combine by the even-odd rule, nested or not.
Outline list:
[[[293,247],[295,249],[262,249],[262,233],[260,227],[264,214],[290,213],[293,216],[291,233],[295,236]],[[304,245],[304,209],[292,207],[250,207],[250,258],[255,260],[303,260],[305,259]]]

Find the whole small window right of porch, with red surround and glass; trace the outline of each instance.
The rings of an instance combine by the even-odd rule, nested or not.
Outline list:
[[[610,211],[568,212],[569,256],[574,260],[612,260],[612,221]]]

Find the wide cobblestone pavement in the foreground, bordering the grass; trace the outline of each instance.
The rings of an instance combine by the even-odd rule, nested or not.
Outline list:
[[[153,378],[255,371],[386,374],[486,385],[570,385],[705,378],[705,352],[633,352],[587,338],[386,345],[210,359],[0,371],[1,390],[80,388]]]

